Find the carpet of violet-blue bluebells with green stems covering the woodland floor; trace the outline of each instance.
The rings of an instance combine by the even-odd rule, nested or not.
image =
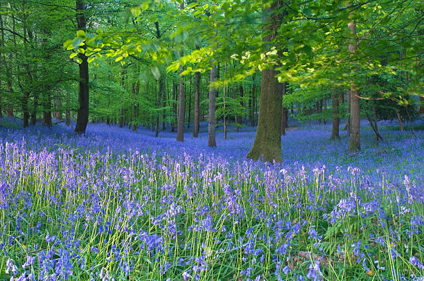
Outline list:
[[[299,125],[279,164],[201,129],[3,120],[0,280],[424,280],[423,130],[364,123],[351,154]]]

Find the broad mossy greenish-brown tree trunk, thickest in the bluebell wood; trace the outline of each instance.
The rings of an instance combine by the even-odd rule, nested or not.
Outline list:
[[[267,1],[263,0],[265,4]],[[270,31],[270,35],[263,37],[263,42],[272,41],[276,37],[277,30],[281,26],[283,13],[281,1],[274,1],[267,11],[274,12],[270,18],[265,19],[268,25],[264,27],[264,33]],[[281,87],[276,78],[278,71],[263,69],[260,82],[259,118],[258,129],[253,147],[247,158],[262,161],[281,162]]]

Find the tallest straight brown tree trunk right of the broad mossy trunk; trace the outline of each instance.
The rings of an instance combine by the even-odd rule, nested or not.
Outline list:
[[[351,21],[348,24],[348,27],[351,29],[351,35],[356,37],[356,24],[355,21]],[[348,50],[353,55],[356,51],[357,44],[356,42],[351,42],[348,45]],[[357,71],[355,68],[353,71]],[[360,145],[360,129],[361,129],[361,111],[360,111],[360,98],[359,91],[357,89],[357,84],[352,80],[351,81],[351,138],[349,139],[348,150],[351,152],[361,149]]]

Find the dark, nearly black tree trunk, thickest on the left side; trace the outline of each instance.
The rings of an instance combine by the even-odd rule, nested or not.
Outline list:
[[[76,0],[78,29],[85,30],[87,26],[87,21],[84,15],[86,8],[87,5],[82,0]],[[81,48],[86,49],[87,46],[84,45],[81,46]],[[88,58],[85,54],[78,53],[78,57],[82,60],[82,62],[79,65],[80,82],[78,87],[78,102],[80,104],[80,108],[78,109],[75,132],[78,134],[85,134],[89,117],[89,67],[87,62]]]

